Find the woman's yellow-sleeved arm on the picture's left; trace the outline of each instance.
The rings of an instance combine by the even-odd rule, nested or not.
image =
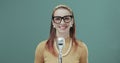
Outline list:
[[[35,51],[34,63],[44,63],[43,50],[44,50],[44,46],[40,43],[37,46],[36,51]]]

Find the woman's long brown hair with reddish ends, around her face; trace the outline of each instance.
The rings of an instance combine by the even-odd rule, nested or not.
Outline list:
[[[76,27],[75,27],[75,20],[74,20],[73,11],[66,5],[58,5],[53,9],[52,16],[54,16],[54,13],[57,9],[61,9],[61,8],[68,10],[73,16],[73,26],[70,28],[69,32],[70,32],[70,38],[72,38],[72,45],[75,44],[75,47],[77,48],[78,43],[77,43],[76,36],[75,36]],[[55,52],[55,49],[54,49],[54,46],[53,46],[55,38],[56,38],[56,29],[53,27],[52,18],[51,18],[50,35],[49,35],[49,38],[48,38],[47,43],[46,43],[46,48],[54,56],[57,56],[57,53]]]

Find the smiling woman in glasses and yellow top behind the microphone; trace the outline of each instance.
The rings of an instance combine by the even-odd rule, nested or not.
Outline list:
[[[34,63],[58,63],[58,37],[65,38],[62,63],[88,63],[87,46],[76,39],[74,15],[66,5],[58,5],[53,10],[50,36],[37,46]]]

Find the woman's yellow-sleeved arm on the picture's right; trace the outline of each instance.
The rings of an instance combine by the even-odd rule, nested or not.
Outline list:
[[[88,48],[83,43],[82,54],[80,57],[80,63],[88,63]]]

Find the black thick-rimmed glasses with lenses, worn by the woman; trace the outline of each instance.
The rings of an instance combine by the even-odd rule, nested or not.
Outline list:
[[[54,23],[60,24],[62,19],[65,23],[69,23],[72,20],[73,16],[72,15],[66,15],[66,16],[53,16],[52,19]]]

